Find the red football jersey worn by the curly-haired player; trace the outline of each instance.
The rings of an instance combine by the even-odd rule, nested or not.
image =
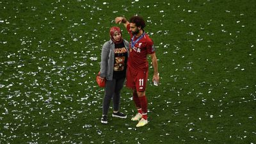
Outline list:
[[[127,31],[131,36],[132,41],[132,33],[130,31],[130,24],[127,25]],[[134,36],[133,42],[135,42],[138,38]],[[131,47],[131,42],[129,44],[129,58],[127,65],[139,71],[147,72],[148,70],[148,61],[147,54],[153,54],[155,52],[155,47],[153,41],[149,38],[147,33],[134,45]]]

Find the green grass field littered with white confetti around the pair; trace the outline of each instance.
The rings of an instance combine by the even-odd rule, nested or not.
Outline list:
[[[2,0],[0,8],[0,143],[256,143],[255,1]],[[152,86],[150,68],[150,122],[131,122],[124,88],[128,118],[111,118],[110,108],[102,125],[101,47],[115,17],[137,14],[161,76]]]

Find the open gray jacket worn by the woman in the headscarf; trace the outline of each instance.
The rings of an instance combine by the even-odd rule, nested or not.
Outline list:
[[[129,56],[129,42],[124,40],[124,46],[127,49]],[[107,80],[113,79],[115,61],[115,43],[110,39],[102,46],[101,61],[100,61],[100,77],[106,77]]]

